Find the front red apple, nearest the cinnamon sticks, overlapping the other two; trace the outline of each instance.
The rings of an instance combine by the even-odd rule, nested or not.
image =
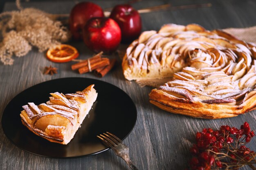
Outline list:
[[[121,30],[111,18],[92,18],[83,29],[83,40],[92,51],[110,54],[121,42]]]

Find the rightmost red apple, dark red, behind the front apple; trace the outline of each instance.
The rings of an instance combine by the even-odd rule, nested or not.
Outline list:
[[[122,42],[131,42],[141,33],[141,18],[136,9],[128,4],[115,6],[110,14],[122,32]]]

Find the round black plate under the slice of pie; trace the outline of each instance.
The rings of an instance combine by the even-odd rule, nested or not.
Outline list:
[[[49,100],[51,92],[72,93],[91,84],[95,84],[94,88],[98,92],[97,101],[67,145],[49,142],[22,125],[22,105],[28,102],[39,105]],[[34,85],[14,97],[2,114],[2,128],[5,135],[22,150],[44,157],[68,158],[90,156],[108,150],[96,135],[108,131],[125,139],[136,119],[135,104],[118,87],[90,78],[60,78]]]

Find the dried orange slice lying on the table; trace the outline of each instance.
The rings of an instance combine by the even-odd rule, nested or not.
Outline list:
[[[53,62],[64,63],[77,58],[79,53],[77,49],[71,45],[60,44],[48,49],[46,56]]]

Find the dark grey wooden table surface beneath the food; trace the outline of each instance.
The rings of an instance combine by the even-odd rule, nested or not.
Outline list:
[[[142,1],[134,5],[137,9],[146,6],[165,4],[162,1]],[[124,2],[124,1],[122,1]],[[103,8],[113,7],[118,1],[97,1]],[[256,1],[254,0],[180,0],[171,1],[173,6],[211,2],[211,8],[186,9],[177,11],[161,11],[141,14],[143,30],[158,30],[165,23],[186,25],[198,23],[206,29],[227,27],[249,27],[256,25]],[[52,13],[69,13],[74,1],[36,1],[22,3],[24,7],[36,7]],[[16,9],[13,2],[6,2],[4,10]],[[83,42],[71,42],[80,51],[80,58],[92,56]],[[124,46],[124,45],[123,45]],[[114,56],[115,57],[115,56]],[[116,56],[117,57],[117,56]],[[117,57],[118,58],[118,57]],[[38,83],[63,77],[97,78],[112,83],[123,89],[135,102],[138,118],[135,128],[124,140],[130,147],[130,157],[141,170],[177,170],[184,169],[191,158],[189,148],[195,142],[195,133],[202,128],[216,129],[220,125],[240,127],[245,121],[256,130],[256,114],[250,112],[245,115],[229,119],[204,120],[188,116],[171,114],[151,105],[148,101],[150,87],[139,87],[135,82],[126,81],[121,71],[121,60],[118,67],[104,78],[97,78],[93,74],[79,75],[70,69],[72,63],[57,64],[45,58],[45,53],[36,50],[27,56],[15,58],[12,66],[0,64],[0,115],[11,99],[24,89]],[[54,76],[43,75],[45,66],[53,65],[58,68]],[[249,147],[256,150],[256,139]],[[46,169],[88,169],[88,170],[119,170],[128,169],[126,163],[117,157],[112,150],[91,157],[76,159],[50,159],[29,154],[13,145],[0,128],[0,169],[10,170],[46,170]],[[247,170],[249,168],[243,168]]]

